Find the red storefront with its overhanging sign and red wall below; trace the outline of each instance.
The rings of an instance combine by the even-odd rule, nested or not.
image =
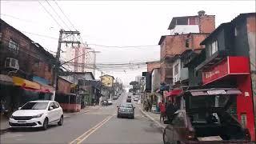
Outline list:
[[[255,140],[249,58],[228,56],[222,60],[212,60],[207,64],[202,67],[203,85],[232,81],[242,91],[242,94],[239,94],[237,97],[238,120],[249,129],[252,140]]]

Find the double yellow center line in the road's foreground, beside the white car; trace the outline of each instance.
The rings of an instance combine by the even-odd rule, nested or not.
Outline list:
[[[96,126],[90,128],[90,130],[87,130],[84,134],[80,135],[78,138],[75,138],[74,141],[70,142],[70,144],[82,142],[84,139],[88,138],[88,136],[90,134],[92,134],[95,130],[97,130],[100,126],[102,126],[104,123],[106,123],[108,120],[110,120],[110,118],[112,118],[112,117],[113,117],[113,115],[106,117],[105,119],[103,119],[102,122],[99,122]],[[89,133],[89,135],[88,135],[88,133]],[[85,136],[86,136],[86,138],[83,138]]]

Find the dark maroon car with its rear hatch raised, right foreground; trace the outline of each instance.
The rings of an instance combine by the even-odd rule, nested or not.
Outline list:
[[[186,91],[181,97],[184,109],[177,110],[170,121],[164,122],[168,125],[163,132],[163,142],[250,143],[249,130],[227,112],[236,94],[241,91]]]

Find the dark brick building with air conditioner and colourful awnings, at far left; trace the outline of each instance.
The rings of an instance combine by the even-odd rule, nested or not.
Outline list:
[[[7,86],[0,80],[0,94],[7,108],[15,109],[28,100],[50,99],[54,56],[2,19],[0,30],[0,74],[10,81]]]

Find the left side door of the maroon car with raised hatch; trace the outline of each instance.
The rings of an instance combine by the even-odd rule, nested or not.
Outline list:
[[[183,112],[178,112],[173,121],[171,122],[173,126],[173,140],[172,142],[178,142],[181,140],[186,140],[186,120],[185,114]]]

